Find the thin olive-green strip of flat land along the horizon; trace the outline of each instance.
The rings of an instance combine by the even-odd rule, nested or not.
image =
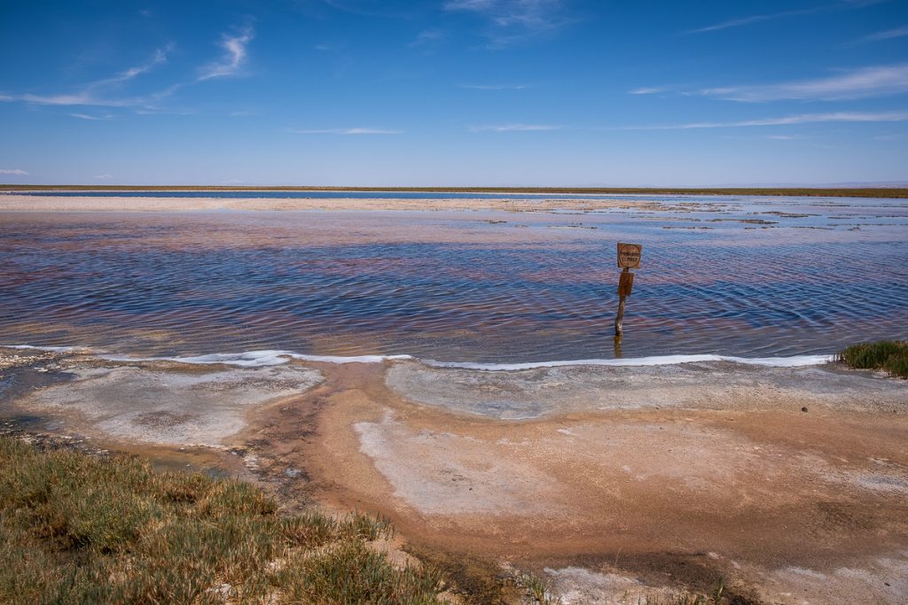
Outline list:
[[[592,195],[763,195],[835,198],[908,198],[908,188],[636,188],[636,187],[236,187],[215,185],[5,185],[0,191],[365,191]]]

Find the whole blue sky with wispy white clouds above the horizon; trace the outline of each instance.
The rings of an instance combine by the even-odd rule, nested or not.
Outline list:
[[[0,0],[0,183],[908,181],[908,2]]]

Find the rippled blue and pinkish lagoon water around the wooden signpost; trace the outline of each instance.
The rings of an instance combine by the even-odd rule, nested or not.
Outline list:
[[[905,200],[645,200],[660,206],[0,213],[0,343],[507,363],[908,337]],[[644,245],[619,350],[618,240]]]

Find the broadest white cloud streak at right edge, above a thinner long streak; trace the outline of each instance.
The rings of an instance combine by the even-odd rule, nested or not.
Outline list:
[[[765,102],[794,99],[840,101],[908,92],[908,63],[864,67],[827,78],[754,86],[726,86],[700,91],[728,101]]]

